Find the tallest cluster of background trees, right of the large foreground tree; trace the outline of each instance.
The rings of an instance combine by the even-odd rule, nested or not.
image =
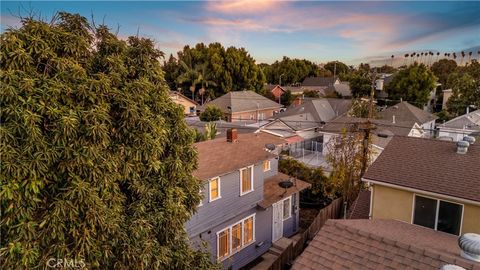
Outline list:
[[[176,60],[169,59],[164,65],[165,79],[171,88],[181,88],[187,96],[192,96],[192,85],[195,93],[205,88],[204,99],[214,99],[229,91],[263,91],[265,76],[244,48],[225,49],[220,43],[198,43],[192,48],[185,46]],[[178,80],[179,77],[183,78]]]

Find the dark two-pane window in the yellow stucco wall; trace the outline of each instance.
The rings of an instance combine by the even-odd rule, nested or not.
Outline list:
[[[460,234],[463,205],[415,195],[413,224]]]

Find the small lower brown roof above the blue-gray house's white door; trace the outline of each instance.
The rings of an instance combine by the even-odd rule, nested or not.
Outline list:
[[[288,179],[292,179],[292,187],[285,190],[278,185],[278,183],[281,181],[286,181]],[[265,182],[263,183],[263,201],[259,202],[258,206],[262,207],[263,209],[267,209],[270,205],[278,202],[279,200],[311,186],[312,185],[302,180],[295,179],[283,173],[278,173],[277,175],[265,179]]]

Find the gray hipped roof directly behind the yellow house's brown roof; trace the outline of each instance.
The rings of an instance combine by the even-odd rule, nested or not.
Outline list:
[[[394,115],[396,122],[411,122],[419,125],[438,118],[433,114],[419,109],[406,101],[400,102],[394,106],[390,106],[384,111],[379,112],[380,118],[387,121],[392,121]]]

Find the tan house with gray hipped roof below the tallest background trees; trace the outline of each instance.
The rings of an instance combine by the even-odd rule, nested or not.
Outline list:
[[[228,122],[254,123],[272,117],[282,107],[253,91],[232,91],[216,98],[201,107],[209,105],[219,107]]]

